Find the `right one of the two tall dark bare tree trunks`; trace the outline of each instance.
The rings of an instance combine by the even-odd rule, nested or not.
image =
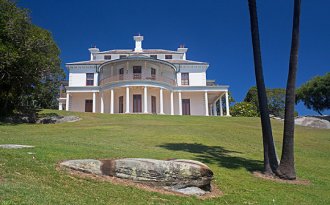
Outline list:
[[[301,0],[294,1],[289,75],[285,95],[283,148],[281,162],[276,173],[284,179],[296,179],[294,166],[294,106],[299,48],[300,4]]]

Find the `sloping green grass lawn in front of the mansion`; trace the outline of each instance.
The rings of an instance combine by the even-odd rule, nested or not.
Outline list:
[[[262,169],[258,118],[78,115],[63,124],[0,125],[0,204],[330,204],[330,131],[296,127],[297,175],[311,185],[254,177]],[[272,121],[280,155],[281,122]],[[34,152],[35,159],[27,152]],[[143,157],[200,160],[214,171],[219,198],[169,196],[56,171],[66,159]]]

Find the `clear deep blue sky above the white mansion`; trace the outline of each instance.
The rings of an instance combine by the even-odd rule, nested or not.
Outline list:
[[[88,48],[189,48],[187,58],[210,63],[208,79],[230,86],[242,101],[255,85],[247,0],[20,0],[32,22],[49,30],[61,49],[62,67],[88,60]],[[330,1],[302,1],[297,86],[330,72]],[[266,86],[285,87],[289,65],[293,0],[258,1]],[[315,114],[302,104],[299,114]],[[330,114],[330,111],[325,112]]]

